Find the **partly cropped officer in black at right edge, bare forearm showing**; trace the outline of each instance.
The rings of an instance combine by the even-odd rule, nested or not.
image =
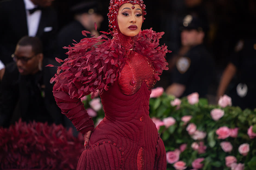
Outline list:
[[[217,98],[229,95],[234,106],[256,108],[256,38],[240,40],[226,66],[217,91]]]

